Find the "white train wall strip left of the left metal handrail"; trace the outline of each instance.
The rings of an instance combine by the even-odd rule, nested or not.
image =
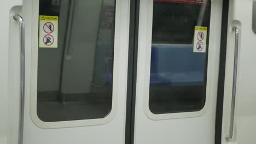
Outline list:
[[[19,71],[19,64],[14,69],[11,67],[19,62],[19,23],[13,19],[15,13],[20,13],[22,1],[3,2],[1,13],[3,21],[1,23],[1,124],[0,124],[0,143],[18,142],[18,119],[19,115],[19,74],[12,75]],[[15,61],[17,60],[17,61]],[[13,71],[14,70],[14,71]]]

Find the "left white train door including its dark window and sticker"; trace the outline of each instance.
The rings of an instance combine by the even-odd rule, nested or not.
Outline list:
[[[129,5],[24,0],[12,9],[25,23],[25,111],[18,122],[19,22],[11,17],[11,143],[124,143]]]

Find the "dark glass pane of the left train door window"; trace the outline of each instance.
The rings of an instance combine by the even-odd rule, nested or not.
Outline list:
[[[39,2],[44,19],[59,16],[59,24],[49,23],[45,31],[59,31],[54,38],[39,34],[38,117],[44,122],[106,117],[112,109],[115,0]],[[56,40],[57,47],[49,48]]]

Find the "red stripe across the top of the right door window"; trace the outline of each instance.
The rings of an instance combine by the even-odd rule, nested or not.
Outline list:
[[[197,5],[210,5],[208,0],[154,0],[154,2],[166,3],[184,3],[184,4],[197,4]]]

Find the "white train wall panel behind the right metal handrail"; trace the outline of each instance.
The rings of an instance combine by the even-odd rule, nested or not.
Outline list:
[[[233,0],[230,1],[229,5],[222,143],[253,144],[256,141],[256,34],[252,30],[252,4],[253,1],[250,0]],[[240,30],[234,138],[231,141],[225,141],[225,136],[229,134],[234,69],[232,64],[234,63],[235,50],[233,26]]]

